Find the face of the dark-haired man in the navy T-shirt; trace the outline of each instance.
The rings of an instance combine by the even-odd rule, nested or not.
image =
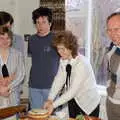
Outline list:
[[[47,16],[40,16],[36,20],[37,32],[41,36],[45,36],[50,32],[51,24],[49,23]]]

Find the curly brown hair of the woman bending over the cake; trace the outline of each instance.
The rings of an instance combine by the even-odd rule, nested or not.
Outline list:
[[[78,55],[78,40],[71,31],[60,31],[56,33],[52,45],[57,49],[58,45],[64,45],[65,48],[72,51],[72,57],[75,58]]]

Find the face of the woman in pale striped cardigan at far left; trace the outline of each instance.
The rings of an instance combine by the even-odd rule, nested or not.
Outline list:
[[[9,48],[11,45],[11,39],[7,33],[0,35],[0,48]]]

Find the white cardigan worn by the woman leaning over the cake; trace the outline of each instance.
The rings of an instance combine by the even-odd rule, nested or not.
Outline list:
[[[70,87],[60,97],[57,97],[66,80],[65,67],[68,63],[72,65]],[[100,103],[100,95],[97,91],[92,66],[83,55],[78,55],[70,61],[60,59],[58,73],[55,76],[48,97],[48,99],[54,101],[54,108],[67,103],[73,98],[78,106],[88,115]]]

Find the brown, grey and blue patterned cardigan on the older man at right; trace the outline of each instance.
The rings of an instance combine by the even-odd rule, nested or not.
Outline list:
[[[108,99],[120,105],[120,48],[113,45],[107,53],[108,59]]]

